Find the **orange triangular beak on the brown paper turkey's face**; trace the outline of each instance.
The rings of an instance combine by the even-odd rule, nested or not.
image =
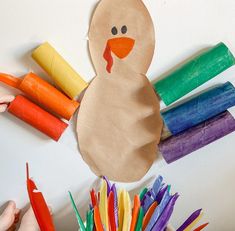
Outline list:
[[[131,38],[121,37],[108,40],[110,50],[120,59],[129,55],[133,49],[135,40]]]

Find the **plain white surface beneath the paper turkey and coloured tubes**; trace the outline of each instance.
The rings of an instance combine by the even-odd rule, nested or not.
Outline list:
[[[47,75],[30,53],[44,41],[51,42],[89,81],[95,74],[89,60],[86,34],[96,0],[1,0],[0,71],[23,75],[33,70]],[[235,53],[234,0],[146,0],[157,33],[157,49],[149,79],[153,80],[195,52],[224,41]],[[215,82],[235,77],[231,68]],[[0,92],[7,92],[3,85]],[[8,91],[12,92],[12,91]],[[13,91],[16,93],[16,91]],[[99,184],[77,150],[75,120],[59,143],[47,139],[8,113],[0,115],[0,206],[13,199],[19,207],[28,203],[25,162],[52,205],[58,230],[76,230],[68,190],[84,215],[90,187]],[[135,189],[162,174],[180,193],[172,224],[178,227],[191,212],[204,208],[207,230],[235,230],[235,134],[231,134],[174,164],[159,169],[135,184]],[[123,186],[123,185],[122,185]]]

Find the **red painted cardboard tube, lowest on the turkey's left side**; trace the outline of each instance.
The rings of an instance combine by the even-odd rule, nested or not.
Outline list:
[[[24,96],[18,95],[13,100],[8,112],[30,124],[37,130],[58,141],[68,124],[43,110]]]

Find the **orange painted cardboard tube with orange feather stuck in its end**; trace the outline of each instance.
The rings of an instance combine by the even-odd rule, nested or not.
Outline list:
[[[69,99],[34,73],[25,75],[23,79],[0,73],[0,81],[21,90],[35,103],[66,120],[72,117],[79,106],[78,102]]]

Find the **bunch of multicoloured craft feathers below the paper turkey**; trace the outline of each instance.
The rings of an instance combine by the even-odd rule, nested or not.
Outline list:
[[[123,189],[117,191],[115,184],[104,177],[99,192],[94,189],[90,192],[91,203],[83,223],[72,194],[69,194],[81,231],[171,230],[168,224],[179,197],[178,193],[171,194],[170,186],[159,176],[152,187],[143,188],[135,195],[132,207],[129,193]],[[177,231],[204,229],[208,223],[194,229],[201,217],[202,210],[195,211]]]

